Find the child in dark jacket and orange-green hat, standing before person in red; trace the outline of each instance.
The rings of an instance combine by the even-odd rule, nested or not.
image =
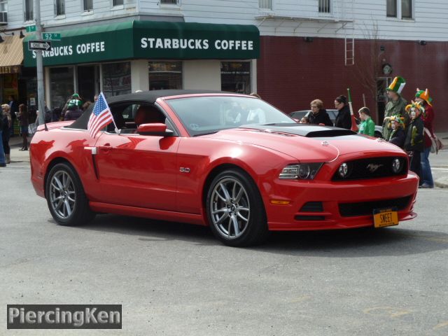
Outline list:
[[[407,127],[405,151],[409,153],[411,158],[409,170],[419,175],[419,183],[421,184],[423,179],[421,179],[420,161],[421,152],[424,150],[423,119],[421,118],[421,114],[425,109],[419,102],[412,102],[412,104],[406,106],[406,111],[409,113],[411,122],[409,123],[409,127]]]

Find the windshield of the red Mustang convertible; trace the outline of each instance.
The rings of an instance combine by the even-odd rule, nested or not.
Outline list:
[[[188,97],[167,100],[191,136],[251,124],[293,123],[261,99],[235,96]]]

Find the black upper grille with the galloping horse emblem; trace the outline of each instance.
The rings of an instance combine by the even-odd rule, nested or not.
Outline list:
[[[393,160],[400,160],[400,171],[393,172]],[[336,171],[332,181],[350,181],[362,179],[379,179],[387,176],[400,176],[407,174],[407,160],[403,157],[368,158],[345,162],[348,165],[348,174],[341,177]],[[338,167],[339,168],[339,167]]]

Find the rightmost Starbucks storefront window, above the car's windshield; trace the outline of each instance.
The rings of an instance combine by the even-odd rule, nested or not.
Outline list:
[[[251,93],[251,62],[221,62],[221,90]]]

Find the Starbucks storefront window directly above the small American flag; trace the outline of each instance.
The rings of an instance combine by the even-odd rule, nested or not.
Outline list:
[[[131,93],[131,63],[109,63],[102,65],[103,93],[106,97]]]

